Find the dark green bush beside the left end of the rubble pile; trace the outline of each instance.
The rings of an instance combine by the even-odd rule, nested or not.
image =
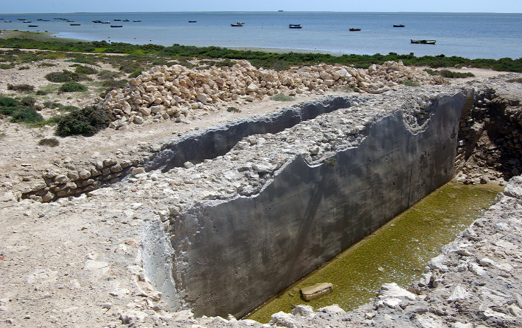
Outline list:
[[[62,137],[91,136],[108,127],[111,121],[111,116],[107,111],[96,106],[89,106],[63,116],[56,126],[56,134]]]

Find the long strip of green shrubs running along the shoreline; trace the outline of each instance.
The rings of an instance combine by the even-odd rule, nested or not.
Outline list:
[[[317,63],[355,65],[366,68],[372,64],[382,64],[387,61],[402,61],[405,65],[435,67],[469,66],[489,68],[495,71],[522,72],[522,58],[468,59],[459,56],[416,57],[414,53],[397,54],[390,52],[387,55],[357,55],[343,54],[340,56],[321,53],[270,53],[263,51],[244,51],[221,48],[218,46],[189,46],[173,44],[163,46],[157,44],[130,44],[123,42],[106,41],[77,41],[70,40],[42,40],[40,34],[21,33],[18,38],[0,39],[0,47],[15,49],[39,49],[86,53],[116,53],[132,55],[155,55],[164,57],[188,58],[225,58],[233,60],[248,60],[256,67],[272,69],[287,69],[291,65],[314,65]]]

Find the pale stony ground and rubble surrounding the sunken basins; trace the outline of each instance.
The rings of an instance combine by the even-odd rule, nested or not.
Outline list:
[[[105,99],[104,106],[114,111],[115,128],[89,138],[63,138],[60,146],[55,148],[37,146],[39,138],[53,135],[50,128],[30,131],[2,122],[2,325],[262,326],[254,321],[238,321],[235,318],[194,318],[189,310],[170,312],[161,299],[161,293],[149,283],[142,267],[144,229],[151,225],[166,228],[177,210],[197,200],[219,199],[235,194],[251,195],[269,183],[272,172],[296,155],[302,155],[313,164],[334,154],[338,150],[336,147],[346,147],[350,143],[357,145],[364,137],[366,125],[395,109],[394,100],[398,95],[410,99],[415,109],[422,108],[429,95],[455,92],[461,88],[456,85],[422,89],[403,86],[399,84],[401,81],[411,79],[427,85],[441,84],[443,81],[431,78],[422,71],[388,64],[364,72],[346,67],[302,69],[289,73],[287,78],[293,79],[293,83],[303,75],[314,76],[317,81],[321,78],[323,82],[318,89],[301,81],[299,85],[281,83],[275,91],[267,91],[268,81],[265,81],[265,86],[262,85],[264,77],[269,81],[277,77],[281,81],[283,77],[279,73],[272,72],[272,77],[268,77],[270,74],[267,72],[256,72],[245,64],[239,66],[243,68],[238,69],[251,74],[235,75],[232,72],[234,74],[219,75],[213,72],[199,77],[194,75],[196,83],[191,81],[201,90],[185,87],[194,90],[189,95],[175,86],[178,75],[172,81],[169,78],[173,73],[186,73],[187,76],[192,72],[183,72],[181,68],[181,72],[177,72],[179,67],[153,69],[144,74],[144,78],[131,81],[132,86],[128,89],[113,92]],[[343,70],[346,75],[339,73]],[[332,78],[324,74],[322,78],[322,71]],[[337,75],[333,73],[339,77],[336,79]],[[155,74],[158,76],[153,80]],[[222,85],[230,88],[230,82],[224,79],[227,76],[235,76],[234,83],[246,89],[240,88],[243,91],[239,94],[225,92],[221,98],[211,96],[216,91],[214,89],[203,92],[204,85],[217,87],[219,78],[223,79]],[[372,77],[375,79],[372,80]],[[498,181],[516,176],[516,170],[522,169],[519,155],[514,153],[520,147],[517,146],[520,142],[516,142],[519,139],[515,138],[520,132],[515,131],[519,131],[520,127],[518,119],[521,111],[517,99],[520,99],[521,88],[520,84],[505,80],[506,77],[480,80],[466,86],[480,90],[481,103],[484,103],[482,110],[478,103],[470,107],[468,117],[462,118],[465,124],[461,127],[470,128],[461,129],[462,157],[457,160],[458,165],[466,168],[463,170],[466,176],[461,178],[468,183],[477,182],[473,179],[478,179],[479,183],[481,179]],[[251,86],[254,81],[259,84]],[[167,85],[169,87],[165,88]],[[383,91],[383,94],[330,92],[334,85],[371,92]],[[167,94],[163,95],[162,91]],[[157,97],[156,92],[161,96]],[[326,114],[321,120],[311,120],[278,134],[245,137],[227,155],[216,159],[196,165],[186,163],[184,167],[168,172],[147,172],[144,169],[147,160],[183,136],[231,121],[280,111],[281,102],[268,98],[268,95],[280,92],[296,97],[296,101],[289,104],[332,94],[348,95],[359,100],[354,100],[356,105],[353,108]],[[144,95],[148,97],[146,103],[143,101]],[[233,95],[237,98],[234,99]],[[490,102],[498,103],[500,107],[495,108],[499,110],[505,105],[501,112],[507,113],[502,115],[507,119],[500,120],[500,125],[491,125],[507,129],[502,143],[493,134],[483,133],[488,132],[484,122],[489,124],[492,121],[493,112],[485,110],[493,108],[485,105]],[[359,104],[366,111],[360,111]],[[241,112],[226,111],[232,106]],[[152,108],[157,108],[157,111]],[[176,117],[178,113],[180,115]],[[422,115],[421,112],[412,112],[412,115],[416,114]],[[511,126],[503,124],[504,121],[510,122]],[[501,128],[491,128],[491,131],[497,130],[501,131]],[[465,133],[469,131],[474,133]],[[303,138],[303,135],[314,137]],[[271,153],[266,152],[267,145],[272,146],[269,147]],[[477,145],[482,149],[482,155],[473,151],[466,153],[466,147]],[[246,156],[246,153],[249,155]],[[488,154],[493,153],[499,159],[511,156],[512,162],[495,160],[488,163]],[[496,166],[498,163],[502,165]],[[503,171],[504,167],[506,169]],[[475,176],[481,170],[481,175]],[[95,180],[97,177],[103,178]],[[126,179],[121,181],[124,177]],[[94,182],[82,185],[89,179]],[[94,188],[78,190],[93,184]],[[99,188],[102,185],[107,188]],[[61,191],[65,192],[58,195]],[[48,195],[49,192],[52,195]],[[169,206],[165,205],[166,199]],[[520,326],[520,199],[522,180],[515,177],[488,213],[430,262],[419,282],[410,286],[410,291],[385,285],[374,301],[356,311],[345,313],[336,306],[314,311],[299,306],[293,314],[275,314],[265,326]]]

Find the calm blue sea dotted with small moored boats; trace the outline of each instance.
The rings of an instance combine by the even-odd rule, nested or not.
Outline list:
[[[24,23],[24,20],[31,23]],[[111,24],[97,24],[92,20],[110,21]],[[237,22],[244,25],[231,26]],[[290,24],[299,24],[302,28],[290,29]],[[122,27],[112,28],[111,25]],[[361,30],[350,31],[350,28]],[[181,44],[334,54],[444,54],[473,59],[522,57],[522,14],[278,10],[0,14],[2,29],[48,31],[56,37],[80,40],[165,46]],[[436,44],[412,44],[411,39],[436,40]]]

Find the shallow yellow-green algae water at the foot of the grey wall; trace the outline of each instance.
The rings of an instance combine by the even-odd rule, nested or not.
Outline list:
[[[298,304],[315,309],[338,304],[349,311],[372,299],[382,284],[408,286],[443,245],[480,217],[502,189],[494,184],[445,184],[246,319],[266,323],[273,313],[291,312]],[[332,283],[334,290],[310,302],[302,300],[300,289],[316,283]]]

